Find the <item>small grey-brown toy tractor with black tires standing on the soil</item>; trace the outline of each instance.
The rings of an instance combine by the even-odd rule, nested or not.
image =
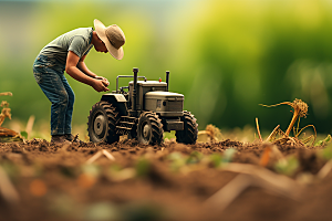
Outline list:
[[[166,83],[146,81],[145,76],[137,75],[138,69],[133,72],[134,76],[117,76],[116,91],[104,94],[92,106],[87,123],[90,140],[112,144],[127,135],[145,145],[160,145],[164,131],[176,130],[177,143],[195,144],[196,118],[183,110],[183,94],[168,92],[169,72],[166,72]],[[134,77],[134,81],[118,88],[121,77]]]

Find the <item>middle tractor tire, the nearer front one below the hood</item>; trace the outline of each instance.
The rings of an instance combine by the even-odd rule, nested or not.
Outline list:
[[[164,141],[164,129],[158,115],[144,112],[138,118],[137,140],[144,145],[160,145]]]

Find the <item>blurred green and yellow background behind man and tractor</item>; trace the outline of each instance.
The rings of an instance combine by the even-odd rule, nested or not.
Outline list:
[[[122,61],[95,50],[85,60],[111,91],[133,67],[148,80],[165,80],[170,71],[169,90],[185,95],[199,129],[255,127],[258,117],[262,130],[278,124],[286,130],[291,108],[259,104],[300,98],[309,105],[301,126],[331,133],[330,0],[0,0],[0,92],[13,93],[1,101],[21,127],[34,115],[33,129],[49,134],[51,105],[32,73],[39,51],[62,33],[93,27],[94,19],[116,23],[126,35]],[[102,93],[68,80],[76,95],[74,128],[85,131]]]

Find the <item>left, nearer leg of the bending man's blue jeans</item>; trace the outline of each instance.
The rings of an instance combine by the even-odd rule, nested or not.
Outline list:
[[[52,103],[51,106],[51,135],[63,135],[69,95],[63,85],[63,73],[51,67],[34,67],[37,83]]]

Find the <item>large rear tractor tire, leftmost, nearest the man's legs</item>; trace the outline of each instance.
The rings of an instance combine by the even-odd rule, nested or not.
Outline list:
[[[90,140],[93,143],[113,144],[118,141],[120,135],[116,134],[116,124],[120,114],[108,102],[98,102],[92,106],[87,122]]]

